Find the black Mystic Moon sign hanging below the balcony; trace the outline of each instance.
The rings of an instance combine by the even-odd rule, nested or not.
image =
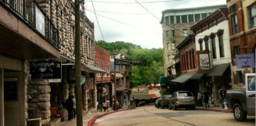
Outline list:
[[[61,79],[61,61],[34,61],[29,68],[32,79]]]

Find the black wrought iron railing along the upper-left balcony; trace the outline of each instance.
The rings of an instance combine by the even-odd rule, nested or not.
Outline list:
[[[59,31],[45,15],[35,0],[0,0],[33,26],[41,35],[59,48]]]

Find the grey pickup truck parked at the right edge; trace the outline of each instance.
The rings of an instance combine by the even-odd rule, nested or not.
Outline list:
[[[255,73],[245,74],[245,90],[227,90],[228,109],[233,110],[237,121],[245,121],[255,116]]]

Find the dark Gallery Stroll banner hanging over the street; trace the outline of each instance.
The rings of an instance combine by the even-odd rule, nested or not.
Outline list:
[[[121,66],[147,66],[147,60],[115,59],[115,65]]]

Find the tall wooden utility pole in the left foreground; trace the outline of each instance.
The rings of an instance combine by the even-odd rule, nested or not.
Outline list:
[[[83,126],[80,54],[80,3],[75,0],[76,126]]]

